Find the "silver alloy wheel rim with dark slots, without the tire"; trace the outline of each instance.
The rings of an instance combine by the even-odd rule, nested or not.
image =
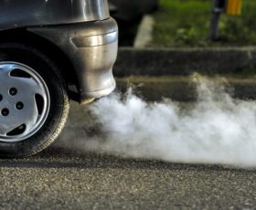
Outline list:
[[[45,81],[17,62],[0,62],[0,142],[20,142],[35,134],[48,117]]]

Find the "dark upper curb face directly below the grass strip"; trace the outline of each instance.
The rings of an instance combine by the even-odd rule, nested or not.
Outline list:
[[[115,77],[240,74],[256,69],[256,47],[136,49],[121,47]]]

